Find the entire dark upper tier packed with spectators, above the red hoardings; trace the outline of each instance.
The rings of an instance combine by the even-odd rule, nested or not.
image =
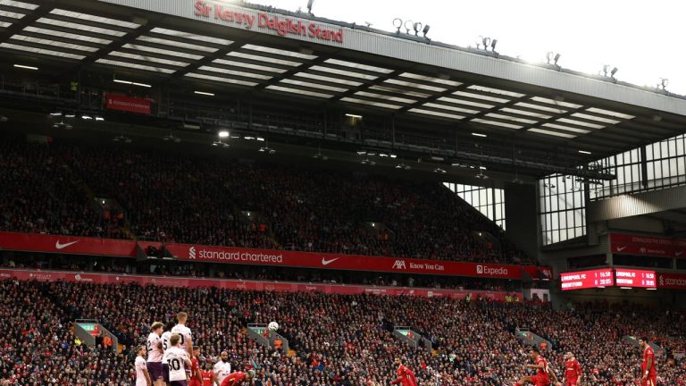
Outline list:
[[[104,224],[88,207],[78,188],[84,181],[96,197],[116,199],[128,214],[130,231],[143,239],[532,263],[494,222],[438,182],[60,139],[46,145],[10,139],[2,145],[0,173],[15,189],[4,190],[12,194],[2,197],[2,231],[120,237],[119,223]],[[478,240],[478,231],[498,241]]]

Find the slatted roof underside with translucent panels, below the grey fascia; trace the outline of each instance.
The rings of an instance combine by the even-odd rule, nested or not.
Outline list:
[[[153,84],[184,80],[286,93],[455,123],[467,135],[565,142],[594,155],[669,138],[686,126],[683,114],[340,47],[303,48],[288,38],[159,13],[131,17],[116,11],[121,7],[92,3],[0,0],[0,51],[66,63],[69,71],[93,66],[135,73]]]

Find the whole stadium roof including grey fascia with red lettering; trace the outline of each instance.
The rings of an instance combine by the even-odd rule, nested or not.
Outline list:
[[[455,124],[467,137],[565,144],[572,164],[686,127],[686,99],[664,91],[227,2],[0,0],[0,51],[63,73],[102,68],[129,74],[124,81],[285,94]]]

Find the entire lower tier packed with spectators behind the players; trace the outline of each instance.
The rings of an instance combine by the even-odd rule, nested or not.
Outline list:
[[[422,385],[511,385],[524,373],[523,365],[527,363],[526,347],[515,340],[514,334],[515,328],[523,327],[554,341],[553,351],[546,356],[558,372],[562,353],[572,350],[584,367],[584,384],[628,386],[638,374],[640,349],[621,341],[623,334],[669,336],[669,340],[662,341],[666,348],[673,343],[682,345],[686,339],[680,327],[685,317],[682,313],[606,304],[556,311],[540,304],[485,300],[190,290],[84,282],[22,282],[19,286],[4,281],[2,290],[2,315],[14,315],[3,321],[4,331],[15,339],[22,333],[29,336],[27,343],[17,340],[3,348],[0,368],[5,377],[20,364],[38,365],[48,360],[44,356],[27,360],[14,346],[23,345],[32,351],[44,348],[42,345],[72,349],[66,315],[97,318],[115,331],[121,343],[131,347],[145,339],[150,323],[171,320],[177,311],[186,310],[191,315],[189,326],[194,340],[202,348],[203,362],[216,360],[222,349],[228,349],[233,366],[255,368],[259,380],[255,384],[262,385],[267,380],[277,385],[386,385],[393,377],[392,360],[396,356],[406,358]],[[30,323],[33,318],[42,323]],[[272,320],[280,322],[280,332],[289,338],[294,356],[274,352],[247,338],[246,323]],[[422,331],[431,337],[434,351],[400,343],[388,330],[391,324],[411,325]],[[27,335],[31,327],[40,334]],[[55,335],[52,343],[46,342],[46,335]],[[94,369],[98,378],[89,384],[130,380],[130,351],[120,357],[95,349],[86,352],[88,356],[109,356],[102,367]],[[54,350],[49,360],[71,360],[71,367],[81,365],[79,356],[71,357],[71,351]],[[657,366],[661,385],[686,382],[683,363],[669,365],[659,358]],[[34,376],[59,377],[56,368],[44,367]]]

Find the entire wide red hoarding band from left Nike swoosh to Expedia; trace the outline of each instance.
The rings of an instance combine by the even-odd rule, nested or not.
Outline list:
[[[206,263],[273,265],[380,273],[439,274],[488,279],[522,280],[524,273],[534,280],[549,280],[552,277],[550,267],[545,266],[461,263],[402,257],[339,255],[176,243],[162,245],[159,242],[150,241],[137,242],[122,239],[0,232],[0,248],[29,252],[136,257],[138,248],[145,250],[150,245],[158,249],[166,249],[171,256],[179,260]]]

